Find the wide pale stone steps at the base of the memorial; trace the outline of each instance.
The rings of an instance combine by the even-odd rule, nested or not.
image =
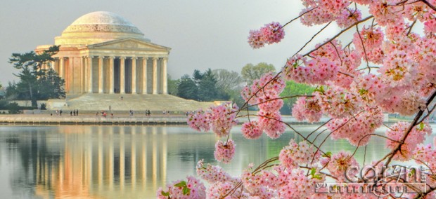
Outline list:
[[[206,109],[214,102],[197,102],[173,95],[143,95],[143,94],[84,94],[67,97],[65,104],[48,107],[51,110],[65,111],[79,109],[80,111],[194,111]]]

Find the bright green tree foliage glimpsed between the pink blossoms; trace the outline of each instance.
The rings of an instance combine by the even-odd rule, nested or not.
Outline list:
[[[311,95],[315,88],[304,83],[295,83],[294,81],[287,81],[286,87],[281,92],[281,97],[293,96],[293,95]],[[292,113],[292,108],[297,102],[297,97],[283,99],[283,108],[281,109],[281,114]]]

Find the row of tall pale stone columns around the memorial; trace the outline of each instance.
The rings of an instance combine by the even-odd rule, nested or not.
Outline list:
[[[82,67],[83,74],[81,74],[80,76],[82,77],[82,83],[84,86],[82,86],[82,88],[84,88],[85,92],[89,92],[89,93],[93,93],[94,91],[98,92],[98,93],[104,93],[104,81],[103,81],[103,76],[104,76],[104,71],[103,71],[103,60],[105,57],[103,56],[98,56],[98,79],[94,80],[94,63],[93,63],[93,58],[97,57],[97,56],[89,56],[89,57],[83,57],[84,58],[84,67]],[[56,60],[55,62],[51,63],[51,67],[58,72],[59,76],[63,79],[65,79],[65,58],[68,57],[59,57],[58,60]],[[109,66],[108,66],[108,70],[109,70],[109,93],[113,94],[114,93],[114,88],[115,88],[115,81],[114,81],[114,67],[115,67],[115,57],[114,56],[110,56],[109,58]],[[162,59],[161,62],[161,76],[160,78],[162,78],[162,94],[167,94],[167,58],[166,57],[151,57],[153,59],[153,85],[152,85],[152,93],[153,94],[158,94],[159,90],[158,90],[158,81],[160,81],[158,79],[158,60]],[[136,94],[136,93],[148,93],[148,86],[147,86],[147,60],[149,59],[149,57],[120,57],[120,94],[125,94],[126,90],[125,90],[125,69],[126,69],[126,65],[125,65],[125,61],[127,59],[131,59],[132,60],[132,94]],[[137,67],[137,62],[142,62],[142,74],[141,74],[141,82],[138,82],[137,77],[137,71],[136,71],[136,67]],[[81,62],[82,63],[82,62]],[[44,64],[42,66],[42,69],[49,69],[49,66],[47,64]],[[93,88],[93,83],[94,81],[98,81],[98,90],[94,90]],[[141,83],[141,88],[142,90],[138,90],[137,87],[139,85],[139,83]]]

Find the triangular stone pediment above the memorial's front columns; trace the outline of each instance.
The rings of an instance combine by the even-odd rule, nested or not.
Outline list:
[[[171,48],[160,46],[146,40],[140,39],[117,39],[103,43],[94,43],[87,46],[94,49],[117,49],[117,50],[164,50],[169,51]]]

